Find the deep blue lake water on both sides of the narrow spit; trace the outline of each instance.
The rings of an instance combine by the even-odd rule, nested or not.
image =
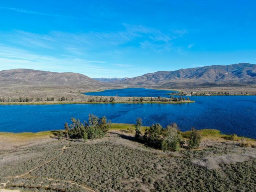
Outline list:
[[[107,90],[86,93],[106,96],[162,96],[170,91],[150,89]],[[141,117],[144,125],[160,123],[163,127],[176,122],[182,131],[219,129],[256,138],[256,96],[192,96],[188,104],[65,104],[2,105],[0,131],[38,132],[63,129],[71,117],[87,120],[88,114],[105,115],[114,123],[135,123]]]

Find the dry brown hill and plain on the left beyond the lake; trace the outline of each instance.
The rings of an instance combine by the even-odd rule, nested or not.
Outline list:
[[[56,73],[30,69],[0,71],[0,97],[4,98],[43,98],[57,99],[62,96],[74,101],[87,101],[82,92],[119,87],[96,81],[78,73]]]

